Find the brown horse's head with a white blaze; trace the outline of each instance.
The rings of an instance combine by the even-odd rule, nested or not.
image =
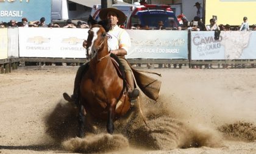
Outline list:
[[[87,41],[84,41],[84,46],[87,50],[87,58],[93,58],[102,47],[104,47],[104,41],[107,39],[106,32],[101,25],[93,25],[88,30]]]

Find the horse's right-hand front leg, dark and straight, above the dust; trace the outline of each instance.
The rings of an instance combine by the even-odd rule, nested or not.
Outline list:
[[[114,132],[114,119],[116,113],[116,99],[112,99],[108,107],[108,117],[107,117],[107,132],[113,134]]]

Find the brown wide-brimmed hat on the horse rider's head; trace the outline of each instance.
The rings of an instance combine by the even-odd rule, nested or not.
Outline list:
[[[107,19],[107,13],[110,11],[116,13],[118,17],[118,23],[117,23],[118,25],[123,24],[126,21],[126,15],[124,15],[124,13],[121,10],[118,10],[115,7],[101,9],[99,11],[99,18],[101,18],[102,20]]]

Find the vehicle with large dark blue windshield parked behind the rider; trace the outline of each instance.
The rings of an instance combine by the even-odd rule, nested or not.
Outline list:
[[[171,9],[170,5],[113,5],[117,9],[124,12],[127,17],[124,26],[130,29],[135,24],[140,24],[141,27],[157,27],[158,21],[163,21],[164,27],[172,27],[171,21],[174,21],[174,27],[179,26],[179,22]],[[101,5],[94,5],[91,10],[93,19],[99,21],[99,11]]]

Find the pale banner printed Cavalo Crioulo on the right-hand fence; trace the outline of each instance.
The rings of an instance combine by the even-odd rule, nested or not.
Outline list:
[[[233,60],[256,58],[255,31],[191,32],[191,60]]]

